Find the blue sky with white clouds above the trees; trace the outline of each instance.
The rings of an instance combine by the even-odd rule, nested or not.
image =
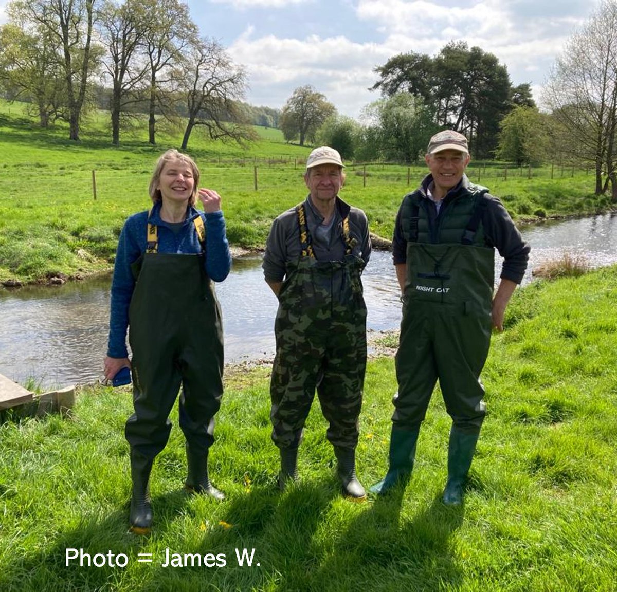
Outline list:
[[[405,52],[466,41],[497,56],[540,104],[555,59],[597,0],[188,0],[201,36],[247,72],[246,102],[280,109],[310,84],[342,115],[380,98],[373,71]],[[6,22],[0,0],[0,24]]]

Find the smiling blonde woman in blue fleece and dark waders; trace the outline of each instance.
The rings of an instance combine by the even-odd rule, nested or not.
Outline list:
[[[107,380],[123,368],[131,369],[133,379],[135,413],[126,422],[125,437],[133,482],[129,522],[138,534],[151,529],[152,462],[167,444],[169,414],[180,388],[185,487],[225,497],[208,474],[214,416],[223,395],[223,325],[212,282],[223,281],[231,268],[221,197],[199,189],[196,163],[178,150],[159,158],[149,193],[152,208],[130,216],[120,233],[104,361]]]

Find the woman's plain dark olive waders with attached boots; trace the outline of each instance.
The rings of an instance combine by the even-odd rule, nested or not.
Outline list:
[[[130,524],[144,533],[152,521],[152,461],[167,444],[169,414],[180,387],[186,487],[222,496],[210,483],[207,458],[223,394],[223,326],[204,255],[144,253],[135,274],[129,308],[135,413],[126,422],[125,436],[133,480]]]

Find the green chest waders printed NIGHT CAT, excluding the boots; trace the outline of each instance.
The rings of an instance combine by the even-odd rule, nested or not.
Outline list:
[[[439,379],[454,423],[479,429],[486,413],[479,376],[491,342],[493,284],[492,248],[408,243],[394,424],[420,425]]]

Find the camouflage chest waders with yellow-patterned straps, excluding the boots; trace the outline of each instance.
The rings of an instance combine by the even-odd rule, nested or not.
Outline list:
[[[300,210],[300,207],[298,208]],[[343,261],[317,261],[304,212],[302,255],[289,263],[276,313],[276,356],[270,382],[272,440],[297,448],[315,389],[335,447],[355,448],[366,369],[366,305],[344,220]]]

